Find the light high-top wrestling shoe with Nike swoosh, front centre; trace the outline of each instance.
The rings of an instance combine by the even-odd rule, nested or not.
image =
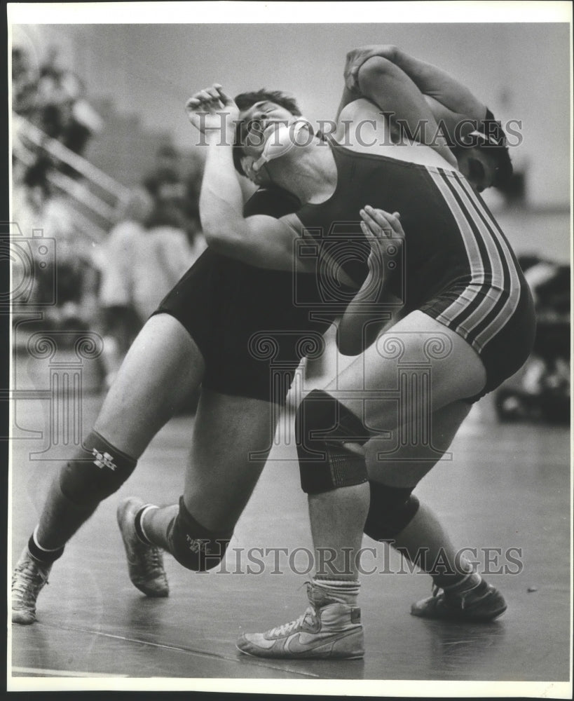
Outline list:
[[[282,660],[355,660],[364,655],[361,610],[333,601],[307,585],[310,606],[303,615],[265,633],[243,633],[238,649]]]

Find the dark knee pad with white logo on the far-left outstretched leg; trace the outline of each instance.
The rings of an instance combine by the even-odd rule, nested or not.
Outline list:
[[[62,468],[60,489],[77,505],[97,505],[118,491],[136,465],[137,460],[114,448],[93,431],[74,459]]]

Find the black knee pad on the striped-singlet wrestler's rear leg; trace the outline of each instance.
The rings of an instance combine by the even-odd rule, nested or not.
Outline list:
[[[414,487],[385,486],[372,480],[370,486],[371,505],[364,533],[373,540],[392,540],[418,511],[418,499],[411,494]]]

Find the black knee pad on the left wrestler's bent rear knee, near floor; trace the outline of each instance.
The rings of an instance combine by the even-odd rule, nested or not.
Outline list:
[[[180,565],[196,572],[217,566],[225,557],[233,533],[208,531],[189,513],[179,498],[179,513],[168,528],[170,552]]]

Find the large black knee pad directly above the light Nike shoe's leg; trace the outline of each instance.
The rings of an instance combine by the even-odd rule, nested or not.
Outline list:
[[[367,482],[364,455],[346,444],[364,445],[371,436],[362,421],[327,392],[313,390],[301,402],[295,437],[301,489],[307,494]]]

